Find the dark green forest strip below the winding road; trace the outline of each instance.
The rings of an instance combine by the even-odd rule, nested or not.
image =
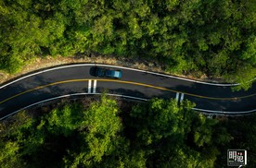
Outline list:
[[[37,117],[19,113],[11,124],[0,125],[0,165],[226,167],[227,149],[249,150],[249,164],[256,165],[255,116],[239,125],[218,122],[192,106],[153,99],[131,107],[103,96]]]

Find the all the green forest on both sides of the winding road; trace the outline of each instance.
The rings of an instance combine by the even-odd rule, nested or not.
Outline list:
[[[37,57],[103,54],[155,60],[170,73],[256,76],[255,0],[1,0],[0,70]],[[250,81],[250,82],[249,82]],[[256,167],[256,116],[208,118],[192,102],[60,103],[0,123],[0,167]],[[246,131],[245,131],[246,130]]]

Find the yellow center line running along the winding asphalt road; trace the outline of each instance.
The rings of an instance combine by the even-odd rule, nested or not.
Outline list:
[[[88,79],[71,79],[71,80],[63,80],[63,81],[50,83],[50,84],[47,84],[47,85],[43,85],[43,86],[33,88],[31,90],[26,90],[26,91],[20,92],[19,94],[11,96],[11,97],[7,98],[6,100],[0,102],[0,104],[4,103],[4,102],[7,102],[11,99],[14,99],[14,98],[16,98],[16,97],[18,97],[22,94],[32,92],[33,90],[40,90],[40,89],[43,89],[43,88],[46,88],[46,87],[49,87],[49,86],[58,85],[58,84],[62,84],[62,83],[80,82],[80,81],[88,81],[88,80],[95,80],[95,79],[96,78],[93,78],[93,79],[90,79],[90,78],[88,78]],[[187,92],[184,92],[184,91],[170,90],[170,89],[157,87],[157,86],[154,86],[154,85],[147,85],[147,84],[144,84],[144,83],[138,83],[138,82],[134,82],[134,81],[125,81],[125,80],[117,80],[117,79],[96,79],[96,80],[105,81],[105,82],[126,83],[126,84],[144,86],[144,87],[147,87],[147,88],[154,88],[154,89],[158,89],[158,90],[167,90],[167,91],[171,91],[171,92],[180,92],[180,93],[184,93],[184,94],[189,95],[189,96],[194,96],[194,97],[203,98],[203,99],[211,99],[211,100],[237,100],[237,99],[249,98],[249,97],[252,97],[252,96],[256,95],[256,93],[254,93],[254,94],[250,94],[250,95],[247,95],[247,96],[233,97],[233,98],[213,98],[213,97],[208,97],[208,96],[201,96],[201,95],[197,95],[197,94],[187,93]]]

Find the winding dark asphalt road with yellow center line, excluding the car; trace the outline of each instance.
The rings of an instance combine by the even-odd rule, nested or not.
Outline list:
[[[174,98],[178,102],[196,102],[195,110],[214,114],[246,114],[256,112],[256,83],[247,91],[232,92],[237,84],[214,84],[187,78],[110,66],[122,70],[122,79],[92,76],[95,64],[58,66],[45,69],[0,86],[0,119],[38,102],[58,99],[63,95],[109,94],[141,100],[153,97]]]

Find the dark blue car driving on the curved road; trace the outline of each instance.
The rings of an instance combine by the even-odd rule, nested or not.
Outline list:
[[[111,70],[96,66],[96,77],[106,78],[122,78],[121,70]]]

